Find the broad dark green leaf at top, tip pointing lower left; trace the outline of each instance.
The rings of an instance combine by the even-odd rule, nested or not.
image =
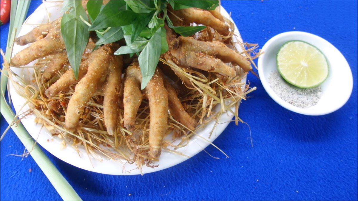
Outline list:
[[[88,30],[94,31],[112,26],[132,24],[138,14],[133,11],[125,10],[125,6],[126,3],[123,0],[109,1]]]

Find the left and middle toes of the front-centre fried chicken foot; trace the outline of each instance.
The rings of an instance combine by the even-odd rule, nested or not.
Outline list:
[[[140,84],[142,74],[139,64],[132,63],[126,70],[124,83],[124,125],[133,130],[135,117],[142,100]],[[149,100],[149,155],[158,158],[168,126],[168,93],[163,84],[163,76],[157,68],[155,74],[144,89],[144,95]]]

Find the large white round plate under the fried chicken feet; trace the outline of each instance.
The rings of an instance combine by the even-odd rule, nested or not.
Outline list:
[[[28,33],[30,30],[35,28],[38,24],[47,23],[50,20],[55,20],[62,16],[61,13],[62,2],[59,1],[44,1],[32,15],[26,19],[25,23],[21,27],[19,32],[19,36]],[[222,14],[229,18],[228,13],[221,8]],[[241,39],[240,34],[237,31],[237,27],[235,26],[236,35]],[[13,55],[18,53],[20,50],[26,48],[26,46],[14,45]],[[240,50],[240,46],[237,45],[237,48]],[[35,62],[32,62],[28,65],[33,65]],[[32,68],[15,68],[11,67],[11,69],[18,75],[20,75],[24,80],[29,81],[34,79],[33,69]],[[242,82],[246,82],[246,76],[242,79]],[[17,113],[20,112],[21,107],[25,103],[25,99],[22,98],[19,94],[17,94],[14,90],[14,86],[10,84],[10,94],[11,99],[13,101],[14,108]],[[22,112],[28,110],[29,107],[25,106],[22,109]],[[235,110],[235,108],[232,108]],[[21,113],[21,112],[20,112]],[[20,116],[21,117],[21,116]],[[165,168],[174,166],[178,163],[181,163],[188,158],[194,156],[195,154],[202,151],[205,147],[207,147],[210,143],[212,143],[220,133],[227,127],[230,120],[233,118],[233,114],[223,114],[218,121],[218,125],[214,130],[211,138],[209,137],[209,132],[213,128],[214,122],[210,122],[203,129],[198,131],[198,136],[193,136],[190,139],[190,142],[187,146],[183,148],[176,149],[176,151],[184,153],[186,156],[181,156],[172,152],[168,152],[163,150],[159,162],[154,162],[153,165],[159,165],[158,167],[151,168],[147,166],[142,167],[142,172],[137,169],[135,164],[128,164],[124,160],[110,160],[109,158],[102,157],[101,161],[93,158],[92,156],[88,156],[84,149],[79,148],[79,153],[71,146],[67,146],[64,149],[61,149],[61,141],[62,139],[57,136],[51,136],[51,134],[44,128],[41,128],[40,124],[34,123],[35,115],[26,116],[21,120],[24,124],[27,131],[31,134],[31,136],[37,140],[37,142],[45,148],[47,151],[52,153],[52,155],[57,158],[84,170],[110,174],[110,175],[137,175],[141,173],[149,173],[155,172],[159,170],[163,170]],[[175,142],[174,142],[175,143]]]

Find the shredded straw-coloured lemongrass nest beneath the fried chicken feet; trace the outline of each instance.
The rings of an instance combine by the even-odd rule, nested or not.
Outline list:
[[[227,23],[230,22],[228,19],[226,21]],[[228,46],[236,52],[241,52],[237,49],[238,45],[240,49],[244,50],[241,52],[242,55],[255,66],[252,60],[260,54],[260,52],[255,52],[257,45],[241,43],[238,40],[239,36],[236,36],[234,33],[233,23],[230,22],[228,24],[231,25],[232,36]],[[199,34],[195,35],[195,38],[204,41],[226,40],[226,38],[211,28],[200,31]],[[49,128],[53,136],[63,137],[63,142],[66,142],[67,147],[72,146],[77,151],[79,147],[83,147],[88,155],[98,160],[101,160],[103,157],[112,160],[124,160],[129,164],[135,163],[139,170],[141,170],[143,165],[156,167],[151,163],[152,158],[149,157],[149,106],[145,100],[143,100],[137,113],[134,132],[128,131],[123,126],[124,110],[122,106],[119,109],[119,124],[117,125],[115,135],[111,136],[106,132],[103,119],[102,89],[98,89],[87,103],[77,130],[69,132],[63,128],[67,104],[74,92],[74,87],[70,87],[68,92],[59,93],[52,98],[45,96],[45,90],[68,69],[68,66],[63,68],[58,75],[45,82],[42,79],[42,70],[46,68],[52,57],[48,56],[39,59],[34,66],[26,67],[33,68],[34,70],[35,79],[32,80],[33,83],[26,83],[19,75],[9,70],[9,79],[13,84],[13,88],[16,93],[26,100],[25,104],[30,106],[29,111],[25,112],[25,116],[35,114],[37,116],[37,123],[41,123],[45,128]],[[166,132],[166,135],[169,137],[164,139],[162,149],[185,156],[185,153],[180,153],[177,149],[186,146],[192,136],[198,136],[208,141],[218,125],[219,117],[224,113],[233,114],[234,120],[232,121],[235,121],[236,125],[238,122],[243,123],[238,117],[240,102],[242,99],[245,100],[246,95],[255,90],[256,87],[250,88],[243,82],[246,80],[247,73],[243,72],[240,67],[229,64],[236,69],[237,73],[236,77],[229,78],[217,73],[203,72],[197,69],[183,69],[163,58],[160,59],[160,62],[169,65],[176,72],[179,72],[190,80],[192,86],[184,90],[184,93],[179,93],[178,97],[186,111],[198,122],[195,131],[191,131],[169,114],[168,130]],[[7,68],[9,69],[9,67]],[[18,81],[15,81],[14,78]],[[197,134],[198,131],[212,120],[216,123],[212,127],[211,132],[207,136],[199,136]],[[63,148],[66,148],[66,145]],[[224,152],[223,154],[226,155]]]

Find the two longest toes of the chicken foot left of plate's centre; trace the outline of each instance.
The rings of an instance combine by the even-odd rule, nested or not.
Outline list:
[[[122,57],[113,55],[113,52],[117,48],[118,46],[115,44],[106,44],[89,55],[87,73],[76,85],[74,93],[68,103],[65,122],[65,128],[67,130],[74,131],[78,126],[80,116],[83,113],[88,100],[96,92],[99,87],[100,79],[106,75],[107,69],[109,69],[110,72],[107,82],[110,81],[113,85],[108,85],[107,83],[106,86],[107,88],[111,87],[114,89],[106,88],[104,90],[105,101],[108,101],[108,103],[103,103],[103,107],[112,107],[113,104],[115,104],[114,102],[117,102],[118,92],[116,92],[116,89],[119,90],[120,88],[120,77],[115,75],[115,72],[121,72],[123,65]],[[117,107],[115,107],[115,109],[117,109]],[[106,125],[110,125],[110,132],[107,132],[113,134],[117,123],[109,122],[116,121],[116,118],[111,118],[113,115],[117,116],[117,113],[113,108],[106,108],[104,109],[104,112],[106,112]],[[110,112],[110,114],[107,114],[108,112]]]

